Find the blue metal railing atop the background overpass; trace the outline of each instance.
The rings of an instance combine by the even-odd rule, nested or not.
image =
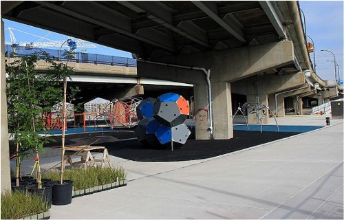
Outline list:
[[[42,52],[46,52],[55,61],[67,61],[66,58],[63,57],[64,50],[52,50],[52,49],[44,49],[44,48],[30,48],[30,47],[22,47],[22,46],[12,46],[12,45],[5,45],[5,56],[6,57],[21,57],[21,56],[28,56],[30,54],[36,53],[39,58],[45,58]],[[136,59],[121,57],[121,56],[109,56],[109,55],[101,55],[101,54],[87,54],[76,52],[74,54],[74,58],[69,59],[69,62],[76,62],[76,63],[93,63],[93,64],[102,64],[102,65],[118,65],[118,66],[125,66],[125,67],[136,67]]]

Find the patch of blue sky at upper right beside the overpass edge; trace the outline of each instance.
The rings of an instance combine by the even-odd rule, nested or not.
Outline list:
[[[299,4],[305,14],[307,35],[314,41],[316,74],[324,80],[334,80],[333,55],[321,52],[330,50],[336,56],[343,80],[343,1],[299,1]],[[310,56],[313,61],[313,54]]]

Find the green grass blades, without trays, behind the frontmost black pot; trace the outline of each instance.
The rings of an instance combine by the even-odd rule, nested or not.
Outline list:
[[[73,168],[65,170],[64,179],[73,180],[74,190],[91,188],[104,184],[111,184],[118,180],[126,179],[127,173],[122,166],[117,168],[102,168],[101,166],[84,168]],[[42,175],[43,178],[60,180],[60,173],[51,170]]]

